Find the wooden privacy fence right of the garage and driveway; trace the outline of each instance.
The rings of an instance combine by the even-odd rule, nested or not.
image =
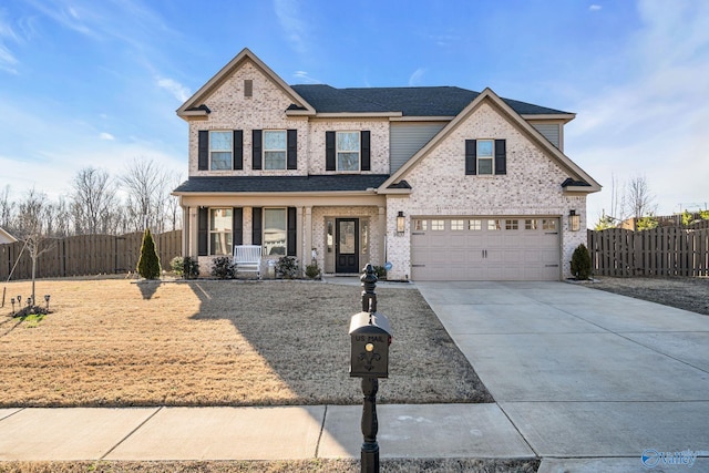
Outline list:
[[[709,276],[709,227],[588,230],[597,276]]]

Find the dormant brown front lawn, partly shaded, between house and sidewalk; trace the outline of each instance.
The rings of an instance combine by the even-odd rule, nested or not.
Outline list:
[[[40,280],[52,313],[0,315],[0,407],[357,404],[360,288],[308,281]],[[392,323],[381,403],[491,402],[417,290],[377,290]]]

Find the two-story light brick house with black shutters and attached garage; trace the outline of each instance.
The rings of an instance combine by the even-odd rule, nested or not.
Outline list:
[[[184,254],[261,245],[326,274],[558,280],[600,186],[564,154],[574,114],[453,86],[288,85],[243,50],[178,110]]]

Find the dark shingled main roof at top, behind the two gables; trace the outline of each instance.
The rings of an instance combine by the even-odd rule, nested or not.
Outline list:
[[[401,112],[404,116],[455,116],[479,92],[453,86],[335,89],[326,84],[291,85],[320,113]],[[516,100],[503,99],[521,115],[566,114]]]

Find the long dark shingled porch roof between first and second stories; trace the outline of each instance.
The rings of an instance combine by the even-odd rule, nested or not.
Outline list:
[[[176,193],[351,192],[379,187],[388,174],[333,174],[311,176],[193,176]]]

